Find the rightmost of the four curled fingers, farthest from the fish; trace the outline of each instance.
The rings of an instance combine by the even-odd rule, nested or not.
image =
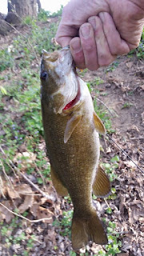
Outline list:
[[[127,54],[130,51],[127,43],[120,37],[118,30],[114,25],[113,18],[110,14],[102,12],[98,14],[99,18],[102,20],[102,26],[108,45],[110,47],[110,53],[113,55]]]

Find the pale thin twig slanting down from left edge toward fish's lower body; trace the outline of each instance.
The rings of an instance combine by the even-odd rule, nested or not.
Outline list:
[[[2,146],[0,146],[0,150],[2,151],[2,154],[6,156],[5,152],[2,150]],[[51,203],[54,202],[53,197],[50,197],[48,194],[40,190],[37,185],[35,185],[33,182],[30,181],[29,178],[26,177],[25,174],[22,174],[22,172],[18,169],[18,167],[14,166],[14,163],[10,159],[8,159],[8,161],[10,162],[10,166],[11,167],[13,166],[14,170],[16,170],[18,174],[20,174],[24,179],[26,179],[26,182],[29,182],[31,186],[33,186],[36,190],[38,190],[39,193],[42,194],[44,198],[47,198]]]

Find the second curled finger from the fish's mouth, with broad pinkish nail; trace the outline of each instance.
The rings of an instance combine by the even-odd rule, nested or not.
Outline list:
[[[86,67],[89,70],[98,70],[97,48],[94,38],[94,30],[90,23],[84,23],[79,29],[81,46],[85,58]]]

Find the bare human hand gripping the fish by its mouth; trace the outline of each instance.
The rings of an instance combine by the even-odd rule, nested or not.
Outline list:
[[[56,40],[70,45],[76,66],[97,70],[136,48],[143,26],[144,0],[71,0]]]

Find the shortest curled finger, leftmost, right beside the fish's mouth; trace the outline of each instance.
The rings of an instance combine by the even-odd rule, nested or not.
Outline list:
[[[80,38],[76,37],[70,41],[70,51],[76,66],[79,69],[84,70],[86,68],[86,64]]]

